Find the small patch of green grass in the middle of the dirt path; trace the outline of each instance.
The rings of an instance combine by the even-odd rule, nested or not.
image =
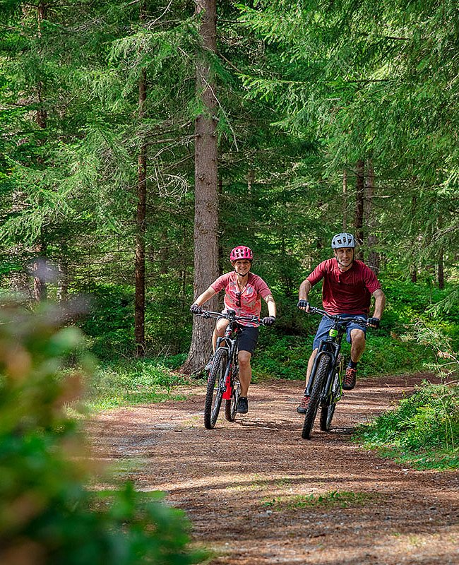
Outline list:
[[[326,494],[297,494],[295,496],[276,496],[265,500],[262,506],[273,511],[295,510],[304,508],[348,508],[361,506],[371,500],[366,492],[330,491]]]

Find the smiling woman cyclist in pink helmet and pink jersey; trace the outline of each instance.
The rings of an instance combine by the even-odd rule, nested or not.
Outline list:
[[[225,290],[225,308],[222,311],[223,313],[227,310],[234,310],[237,316],[259,317],[261,313],[261,299],[263,298],[266,304],[268,304],[269,314],[269,316],[263,318],[263,323],[266,326],[271,326],[275,322],[275,302],[265,281],[258,275],[250,272],[252,261],[254,261],[254,254],[251,249],[244,245],[234,247],[229,254],[229,261],[231,261],[234,270],[217,278],[202,295],[196,298],[190,310],[193,314],[200,314],[202,311],[201,306],[205,302],[217,292],[220,292],[220,290]],[[217,320],[212,336],[214,352],[217,338],[222,338],[225,335],[225,329],[228,324],[229,320],[225,318]],[[249,321],[238,321],[237,324],[240,331],[237,357],[239,359],[239,381],[241,382],[241,396],[239,396],[237,403],[237,412],[239,414],[246,414],[249,412],[247,392],[249,391],[252,378],[250,359],[258,341],[258,326],[255,322]],[[212,368],[212,362],[213,355],[205,366],[206,371]]]

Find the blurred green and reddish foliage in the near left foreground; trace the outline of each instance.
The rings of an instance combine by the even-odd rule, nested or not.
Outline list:
[[[62,328],[63,312],[0,309],[0,561],[2,564],[191,564],[183,513],[159,493],[132,484],[88,492],[85,446],[66,405],[81,393],[81,369],[63,369],[62,356],[80,352],[83,337]],[[25,557],[27,556],[27,557]]]

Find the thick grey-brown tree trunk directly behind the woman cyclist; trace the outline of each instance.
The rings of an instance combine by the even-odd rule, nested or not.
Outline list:
[[[217,11],[215,0],[196,0],[201,15],[203,52],[196,61],[196,89],[203,103],[203,114],[196,117],[194,142],[195,208],[194,208],[194,296],[197,297],[218,276],[218,194],[217,194],[217,120],[215,84],[205,52],[217,49]],[[217,297],[206,304],[218,307]],[[181,370],[186,374],[201,371],[212,350],[213,320],[193,316],[193,333],[188,358]]]

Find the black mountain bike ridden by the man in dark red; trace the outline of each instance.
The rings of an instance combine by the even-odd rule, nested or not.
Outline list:
[[[323,432],[330,430],[331,421],[335,414],[338,401],[342,398],[342,379],[345,375],[345,358],[340,353],[342,338],[346,333],[349,323],[357,323],[359,326],[368,327],[366,320],[362,318],[349,318],[344,316],[332,316],[325,310],[309,307],[309,312],[321,314],[333,321],[333,326],[328,331],[328,338],[321,340],[318,346],[311,376],[306,386],[306,395],[309,396],[309,404],[304,415],[302,437],[311,438],[312,427],[318,408],[321,408],[320,427]]]

